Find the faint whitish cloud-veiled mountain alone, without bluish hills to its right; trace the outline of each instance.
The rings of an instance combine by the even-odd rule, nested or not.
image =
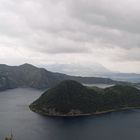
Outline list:
[[[110,70],[102,66],[101,64],[94,63],[91,65],[82,64],[48,64],[46,68],[50,71],[61,72],[73,76],[99,76],[100,74],[106,75],[111,73]]]

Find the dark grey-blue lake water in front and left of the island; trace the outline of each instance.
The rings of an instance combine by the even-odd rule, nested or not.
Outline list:
[[[50,118],[29,110],[34,89],[0,92],[0,140],[140,140],[140,110],[77,118]]]

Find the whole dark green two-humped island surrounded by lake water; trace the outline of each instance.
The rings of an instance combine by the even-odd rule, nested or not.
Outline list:
[[[105,89],[66,80],[48,89],[30,109],[45,116],[85,116],[140,107],[140,90],[129,85]]]

